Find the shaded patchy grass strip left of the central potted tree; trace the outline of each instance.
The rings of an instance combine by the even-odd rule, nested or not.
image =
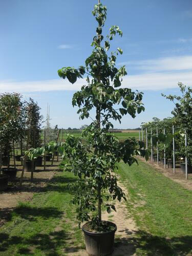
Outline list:
[[[67,185],[75,178],[58,173],[33,200],[19,204],[0,229],[0,255],[65,255],[84,248],[82,231],[69,204]]]

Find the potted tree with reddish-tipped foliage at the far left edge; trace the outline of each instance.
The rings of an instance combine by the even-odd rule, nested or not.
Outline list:
[[[21,96],[17,93],[0,95],[0,143],[1,167],[4,175],[9,176],[9,181],[16,179],[17,169],[10,167],[10,152],[12,141],[24,137],[25,111]],[[5,179],[5,182],[7,179]]]

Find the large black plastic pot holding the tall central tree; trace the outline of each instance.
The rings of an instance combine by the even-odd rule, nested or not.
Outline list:
[[[108,223],[114,225],[114,229],[108,232],[93,233],[87,231],[84,228],[87,223],[82,226],[84,238],[86,240],[86,250],[88,254],[94,256],[109,255],[113,252],[115,231],[117,230],[117,226],[113,222],[108,221]]]

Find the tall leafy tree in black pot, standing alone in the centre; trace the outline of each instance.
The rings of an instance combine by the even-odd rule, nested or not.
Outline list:
[[[111,120],[121,121],[122,116],[129,114],[133,118],[136,113],[144,111],[141,102],[142,93],[132,92],[131,89],[119,88],[122,77],[125,76],[125,67],[117,69],[115,61],[122,50],[117,48],[111,55],[110,41],[115,35],[122,36],[118,26],[110,28],[109,35],[102,35],[102,27],[106,18],[106,7],[95,5],[93,10],[98,27],[93,39],[92,54],[86,59],[85,66],[78,69],[64,67],[58,70],[61,78],[74,83],[77,78],[87,75],[87,85],[73,96],[73,106],[78,106],[80,118],[89,118],[90,111],[95,110],[95,119],[82,131],[81,137],[69,135],[63,143],[62,166],[78,176],[74,185],[75,197],[73,203],[77,205],[77,220],[87,221],[82,226],[86,240],[87,252],[91,255],[107,255],[112,253],[114,234],[117,229],[115,223],[102,220],[101,208],[108,212],[116,210],[112,200],[125,199],[125,194],[117,183],[115,174],[117,163],[123,160],[131,165],[137,160],[134,155],[148,157],[143,150],[144,143],[135,138],[120,142],[109,131],[113,128]],[[117,105],[119,107],[117,108]],[[86,140],[86,141],[85,141]]]

